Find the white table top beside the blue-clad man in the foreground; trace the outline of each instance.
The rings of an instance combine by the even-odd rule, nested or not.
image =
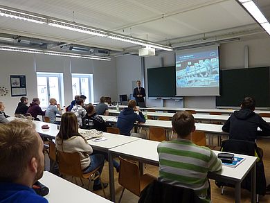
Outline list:
[[[45,196],[48,202],[111,202],[104,197],[96,195],[91,191],[87,191],[87,189],[68,182],[61,177],[49,173],[48,171],[44,171],[44,175],[42,179],[39,179],[39,182],[47,186],[50,190],[48,195]]]

